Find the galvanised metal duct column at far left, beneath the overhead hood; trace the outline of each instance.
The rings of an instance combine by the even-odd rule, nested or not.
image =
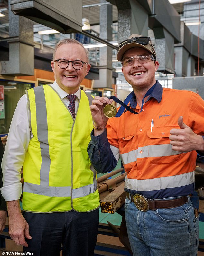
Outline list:
[[[14,15],[9,6],[9,61],[1,61],[1,74],[33,75],[34,43],[33,21]]]

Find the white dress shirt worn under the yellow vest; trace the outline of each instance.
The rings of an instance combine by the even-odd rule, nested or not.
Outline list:
[[[66,96],[69,94],[62,90],[56,81],[51,84],[51,86],[55,91],[57,91],[68,107],[69,100]],[[75,101],[76,112],[81,96],[80,87],[75,95],[77,96]],[[26,94],[24,94],[16,106],[2,159],[4,187],[1,188],[1,192],[6,201],[18,200],[21,196],[22,183],[20,182],[20,171],[25,159],[25,153],[32,137],[33,135],[29,127],[28,100]]]

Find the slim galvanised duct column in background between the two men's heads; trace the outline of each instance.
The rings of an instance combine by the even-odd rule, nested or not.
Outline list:
[[[100,3],[106,3],[100,0]],[[100,6],[100,38],[112,41],[112,5]],[[112,48],[100,47],[99,80],[94,80],[93,88],[112,88]]]

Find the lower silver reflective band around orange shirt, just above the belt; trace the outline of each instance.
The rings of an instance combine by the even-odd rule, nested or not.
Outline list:
[[[137,191],[152,191],[186,186],[192,184],[194,180],[195,171],[169,177],[146,180],[128,179],[125,177],[125,187]]]

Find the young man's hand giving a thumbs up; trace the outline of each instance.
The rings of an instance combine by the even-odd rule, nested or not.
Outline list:
[[[183,117],[178,119],[180,129],[170,130],[170,144],[172,149],[180,152],[190,152],[192,150],[203,150],[204,141],[202,136],[197,135],[192,129],[183,122]]]

